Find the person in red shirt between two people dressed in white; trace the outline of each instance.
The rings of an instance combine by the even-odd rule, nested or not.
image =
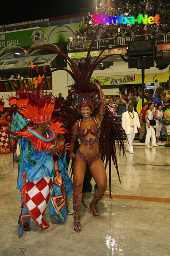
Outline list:
[[[145,114],[148,108],[148,102],[144,102],[143,108],[140,111],[140,136],[139,141],[145,142],[145,136],[146,136],[146,124],[145,124]]]

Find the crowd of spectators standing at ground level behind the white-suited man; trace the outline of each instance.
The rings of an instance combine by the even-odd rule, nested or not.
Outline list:
[[[156,83],[158,83],[157,80],[155,81]],[[133,106],[133,111],[137,111],[138,114],[140,115],[141,130],[139,135],[139,141],[145,142],[145,145],[146,135],[150,136],[150,129],[148,128],[151,127],[151,129],[153,130],[153,127],[150,126],[149,123],[147,123],[148,128],[146,127],[145,114],[149,109],[152,112],[153,119],[156,121],[156,142],[161,142],[159,140],[159,137],[162,131],[163,134],[167,135],[167,141],[165,143],[165,146],[170,147],[170,77],[167,83],[160,83],[159,87],[155,87],[155,89],[153,91],[153,94],[150,93],[149,89],[145,89],[143,106],[142,89],[140,86],[139,88],[135,88],[135,86],[132,86],[132,89],[129,90],[129,92],[126,92],[126,89],[123,88],[118,98],[116,97],[116,95],[109,97],[105,95],[105,97],[108,104],[108,108],[114,115],[119,116],[119,120],[121,120],[122,114],[128,110],[128,106]],[[169,125],[162,125],[164,124],[164,119],[165,123],[166,121],[169,122]],[[153,133],[154,135],[152,135],[152,137],[155,136],[155,132]],[[146,146],[150,147],[149,144]]]

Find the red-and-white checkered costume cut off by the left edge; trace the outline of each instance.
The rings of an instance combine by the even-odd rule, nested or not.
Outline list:
[[[8,121],[9,118],[2,114],[4,109],[4,99],[0,99],[0,153],[10,153],[10,144],[9,144],[9,136],[6,132],[8,129]]]

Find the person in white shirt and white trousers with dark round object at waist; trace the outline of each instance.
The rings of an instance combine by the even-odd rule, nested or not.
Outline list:
[[[153,120],[152,109],[154,108],[154,104],[148,104],[148,110],[145,114],[145,122],[146,122],[146,138],[145,138],[145,147],[157,147],[156,138],[155,138],[155,130],[154,126],[150,124],[150,121]],[[149,145],[151,139],[151,146]]]

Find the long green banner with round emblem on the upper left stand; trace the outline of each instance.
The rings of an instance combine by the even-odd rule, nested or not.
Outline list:
[[[83,23],[79,22],[54,27],[30,28],[0,33],[0,49],[8,46],[29,47],[40,42],[67,42],[68,37],[74,37],[76,30],[79,30],[82,26]]]

